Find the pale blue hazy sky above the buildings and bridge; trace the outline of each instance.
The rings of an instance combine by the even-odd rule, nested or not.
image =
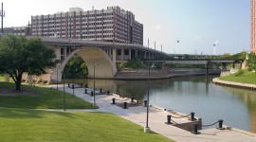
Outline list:
[[[166,53],[249,51],[250,0],[2,0],[4,27],[27,26],[31,15],[119,6],[144,27],[144,45]],[[179,43],[177,43],[179,41]]]

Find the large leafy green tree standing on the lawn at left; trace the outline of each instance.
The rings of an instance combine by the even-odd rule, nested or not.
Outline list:
[[[9,74],[16,84],[16,90],[21,89],[24,72],[42,75],[59,62],[55,58],[54,50],[39,38],[9,35],[0,40],[0,71]]]

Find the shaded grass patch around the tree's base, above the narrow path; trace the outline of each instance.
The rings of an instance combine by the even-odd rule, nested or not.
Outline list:
[[[22,85],[22,91],[15,91],[14,83],[0,83],[1,89],[9,88],[13,89],[12,92],[16,96],[0,96],[0,107],[8,108],[29,108],[29,109],[63,109],[64,108],[64,94],[62,91],[58,91],[50,88],[41,88],[36,86]],[[31,94],[29,96],[21,95],[26,90]],[[96,108],[92,103],[84,101],[82,98],[77,98],[71,94],[65,93],[65,102],[67,109],[92,109]]]

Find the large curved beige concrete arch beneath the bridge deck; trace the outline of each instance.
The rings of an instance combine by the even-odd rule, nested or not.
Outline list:
[[[59,53],[60,54],[60,53]],[[65,57],[60,70],[54,71],[51,80],[56,81],[57,76],[60,81],[62,78],[62,70],[64,70],[65,64],[75,55],[78,54],[82,60],[86,63],[88,68],[88,77],[93,78],[94,76],[94,64],[95,66],[95,77],[97,79],[112,79],[117,73],[116,63],[112,62],[109,56],[101,50],[99,47],[94,46],[82,46],[71,52]],[[57,75],[57,72],[59,73]]]

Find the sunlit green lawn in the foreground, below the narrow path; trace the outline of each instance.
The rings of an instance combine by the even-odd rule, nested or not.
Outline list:
[[[117,115],[1,109],[0,141],[167,142]]]

